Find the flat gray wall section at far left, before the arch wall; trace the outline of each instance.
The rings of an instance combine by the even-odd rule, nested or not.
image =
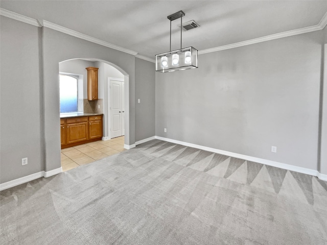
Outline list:
[[[1,182],[44,169],[39,28],[1,16]],[[57,65],[58,66],[58,65]],[[21,158],[28,165],[21,165]]]

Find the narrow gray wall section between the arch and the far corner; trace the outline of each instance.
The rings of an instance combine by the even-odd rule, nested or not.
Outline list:
[[[135,141],[138,141],[155,135],[155,64],[138,58],[135,58],[135,101]]]

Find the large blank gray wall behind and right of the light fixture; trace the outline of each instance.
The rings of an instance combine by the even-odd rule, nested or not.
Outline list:
[[[317,31],[156,72],[156,135],[317,169],[322,42]]]

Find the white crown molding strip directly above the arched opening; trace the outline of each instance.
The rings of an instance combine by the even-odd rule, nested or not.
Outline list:
[[[68,34],[68,35],[71,35],[71,36],[74,36],[74,37],[78,37],[78,38],[84,39],[86,41],[94,42],[94,43],[100,44],[102,46],[110,47],[113,50],[118,50],[118,51],[130,54],[130,55],[135,56],[137,54],[137,52],[132,51],[132,50],[128,50],[127,48],[124,48],[124,47],[121,47],[121,46],[118,46],[118,45],[114,45],[114,44],[106,42],[106,41],[102,41],[102,40],[100,40],[98,38],[91,37],[91,36],[88,36],[88,35],[80,33],[80,32],[76,32],[74,30],[59,26],[58,24],[54,24],[54,23],[51,23],[51,22],[46,21],[46,20],[43,20],[43,27],[50,28],[52,30],[62,32],[62,33],[65,33],[65,34]]]

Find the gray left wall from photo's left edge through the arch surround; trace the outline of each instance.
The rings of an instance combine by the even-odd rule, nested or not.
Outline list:
[[[125,143],[135,142],[133,55],[3,16],[0,32],[1,183],[60,167],[58,64],[64,60],[100,59],[128,75]],[[23,157],[28,157],[28,165],[21,166]]]

